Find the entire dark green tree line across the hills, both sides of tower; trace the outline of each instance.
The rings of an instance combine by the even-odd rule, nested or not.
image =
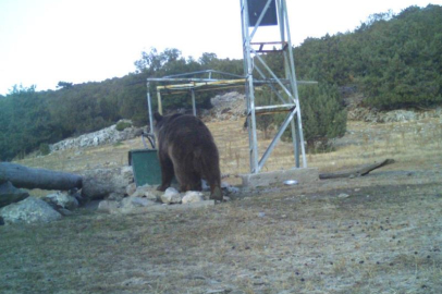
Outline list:
[[[440,5],[410,7],[397,15],[375,14],[354,32],[307,38],[293,50],[298,79],[319,82],[318,86],[299,88],[305,137],[310,144],[345,133],[345,109],[339,91],[343,86],[357,88],[365,95],[367,107],[379,109],[442,103]],[[281,56],[263,58],[284,76]],[[120,119],[147,124],[147,77],[204,70],[243,75],[242,60],[219,59],[214,53],[185,58],[179,49],[158,52],[152,48],[142,53],[135,68],[134,73],[100,83],[61,81],[57,90],[46,91],[14,86],[7,96],[0,95],[0,160],[100,130]],[[151,93],[156,86],[150,84]],[[198,94],[197,107],[210,108],[216,94]],[[266,97],[257,99],[266,103]],[[155,108],[156,99],[152,102]],[[189,108],[189,94],[163,100],[165,109]]]

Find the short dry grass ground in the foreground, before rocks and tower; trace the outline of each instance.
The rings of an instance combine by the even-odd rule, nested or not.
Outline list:
[[[0,292],[441,293],[440,188],[346,199],[286,189],[205,210],[81,210],[3,226]]]

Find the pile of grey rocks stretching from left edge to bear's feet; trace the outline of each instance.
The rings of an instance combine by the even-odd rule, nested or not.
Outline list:
[[[130,213],[148,207],[161,211],[170,205],[185,205],[182,208],[214,205],[214,200],[209,199],[210,192],[205,182],[202,193],[180,194],[174,187],[164,193],[156,191],[156,185],[137,187],[132,167],[90,170],[82,176],[81,191],[56,192],[42,198],[29,196],[27,192],[11,187],[10,183],[3,184],[11,197],[0,209],[0,224],[50,222],[70,216],[81,206],[97,201],[98,210],[111,213]],[[226,183],[222,183],[222,189],[224,195],[240,192]],[[7,200],[5,197],[1,199]],[[228,199],[225,197],[224,200]]]

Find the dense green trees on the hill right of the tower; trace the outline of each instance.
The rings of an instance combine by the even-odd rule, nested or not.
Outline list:
[[[353,33],[308,38],[294,49],[300,76],[355,85],[381,110],[442,102],[442,7],[373,14]]]

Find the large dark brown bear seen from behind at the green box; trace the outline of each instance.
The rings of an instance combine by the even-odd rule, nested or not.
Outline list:
[[[154,113],[161,185],[165,191],[175,175],[181,192],[201,191],[201,179],[210,185],[210,198],[222,200],[220,156],[207,126],[196,117]]]

